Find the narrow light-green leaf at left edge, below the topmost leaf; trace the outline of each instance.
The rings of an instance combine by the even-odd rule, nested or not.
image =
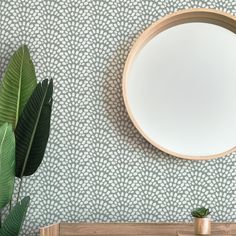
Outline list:
[[[0,209],[11,200],[15,179],[15,136],[12,126],[0,127]]]

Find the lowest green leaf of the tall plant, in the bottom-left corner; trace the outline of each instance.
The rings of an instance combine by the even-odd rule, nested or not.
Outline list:
[[[29,206],[30,197],[24,197],[16,203],[6,217],[0,229],[0,236],[17,236],[20,234]]]

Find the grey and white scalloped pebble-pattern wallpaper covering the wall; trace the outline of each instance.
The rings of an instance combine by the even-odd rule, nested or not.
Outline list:
[[[236,219],[236,156],[187,161],[152,147],[122,99],[127,54],[139,34],[183,8],[236,15],[235,0],[1,0],[0,76],[26,43],[38,80],[54,78],[52,129],[38,172],[24,180],[31,205],[23,235],[64,221],[190,221],[210,207]]]

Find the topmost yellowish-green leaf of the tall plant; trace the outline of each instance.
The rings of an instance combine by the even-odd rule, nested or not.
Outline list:
[[[36,84],[34,65],[23,45],[13,54],[0,87],[0,126],[8,122],[15,129]]]

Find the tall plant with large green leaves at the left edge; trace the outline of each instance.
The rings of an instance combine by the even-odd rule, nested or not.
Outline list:
[[[35,173],[46,149],[52,80],[37,84],[27,46],[12,56],[0,86],[0,236],[18,236],[30,197],[20,200],[24,176]],[[19,178],[16,201],[15,178]],[[4,213],[4,214],[3,214]]]

